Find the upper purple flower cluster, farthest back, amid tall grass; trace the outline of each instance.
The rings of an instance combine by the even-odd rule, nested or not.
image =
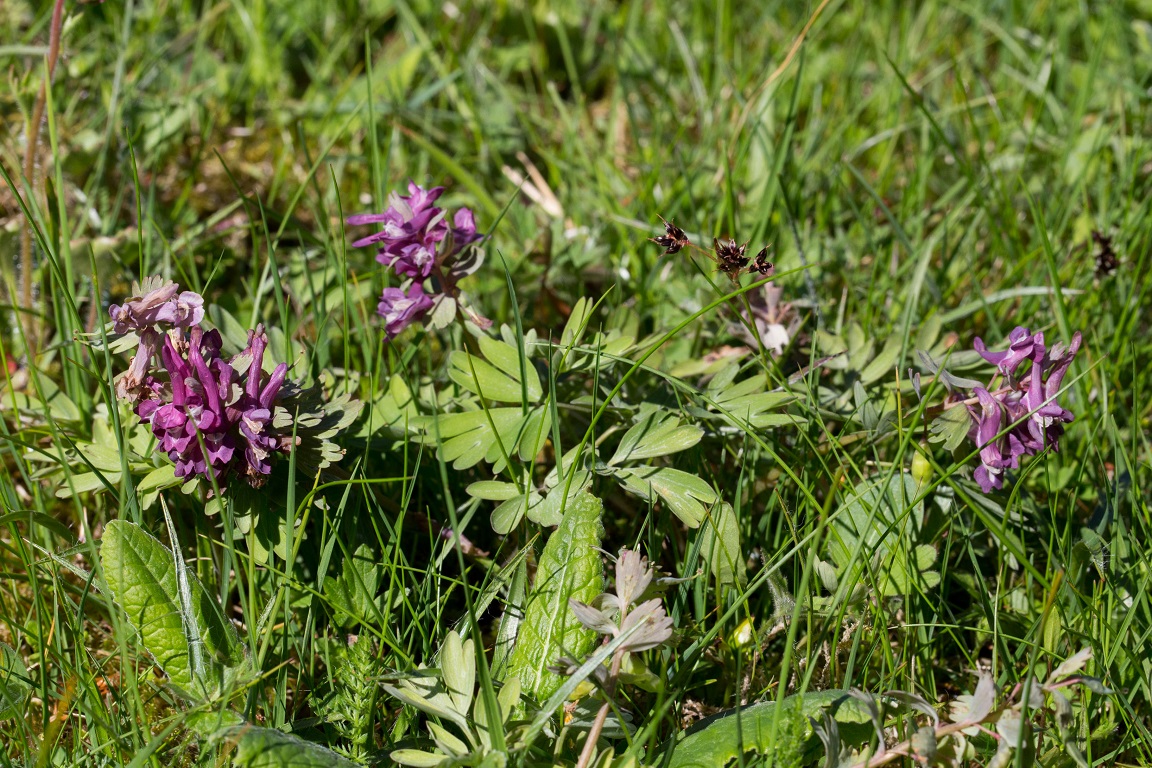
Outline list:
[[[441,296],[455,295],[455,281],[467,272],[449,265],[482,238],[468,208],[456,211],[448,223],[447,212],[434,205],[442,193],[442,187],[424,189],[409,182],[408,196],[393,192],[384,213],[348,218],[350,226],[382,225],[380,231],[355,241],[353,246],[378,245],[376,260],[404,279],[400,288],[386,288],[377,306],[389,340],[424,319]],[[431,294],[425,292],[425,280],[433,283]]]

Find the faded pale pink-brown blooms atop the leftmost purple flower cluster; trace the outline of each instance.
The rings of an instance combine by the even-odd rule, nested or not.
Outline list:
[[[165,332],[199,325],[204,298],[190,290],[181,292],[180,286],[162,277],[147,277],[132,288],[134,296],[109,306],[108,317],[113,332],[135,333],[139,339],[131,365],[116,380],[116,396],[136,400],[143,395],[149,363],[160,353]]]

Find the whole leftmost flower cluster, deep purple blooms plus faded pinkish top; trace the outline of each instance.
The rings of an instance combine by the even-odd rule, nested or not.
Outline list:
[[[119,396],[151,426],[177,478],[223,485],[229,474],[240,474],[253,487],[264,485],[272,454],[291,443],[290,435],[273,428],[287,364],[265,374],[263,326],[248,332],[243,351],[225,359],[220,333],[199,326],[204,299],[198,294],[179,292],[179,286],[158,279],[145,286],[143,297],[109,309],[114,330],[139,339],[131,367],[118,381]],[[151,367],[154,358],[159,367]]]

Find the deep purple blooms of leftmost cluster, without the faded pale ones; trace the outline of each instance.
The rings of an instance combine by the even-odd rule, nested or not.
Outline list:
[[[141,401],[136,413],[175,463],[177,478],[222,482],[235,471],[258,487],[272,471],[272,453],[290,447],[290,439],[270,429],[288,366],[281,363],[265,381],[262,327],[249,332],[248,348],[230,360],[220,356],[220,345],[219,332],[199,327],[190,330],[183,349],[165,336],[168,388],[150,382],[154,396]]]

